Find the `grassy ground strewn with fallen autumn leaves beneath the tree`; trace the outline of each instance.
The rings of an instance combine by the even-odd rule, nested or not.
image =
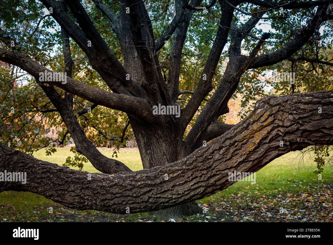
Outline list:
[[[100,149],[106,156],[112,150]],[[52,156],[45,156],[45,150],[35,153],[35,157],[45,161],[62,164],[72,155],[69,148],[58,148]],[[118,159],[132,170],[142,169],[140,153],[137,148],[120,150]],[[198,200],[202,213],[183,217],[181,222],[271,222],[303,221],[333,222],[333,168],[324,167],[320,179],[313,158],[300,162],[299,152],[290,152],[256,173],[256,183],[237,182],[227,189],[208,198]],[[98,172],[90,163],[84,169]],[[319,178],[319,179],[318,179]],[[49,209],[53,208],[53,213]],[[66,208],[43,196],[6,191],[0,193],[1,222],[159,222],[161,220],[148,213],[116,215],[94,210],[78,211]]]

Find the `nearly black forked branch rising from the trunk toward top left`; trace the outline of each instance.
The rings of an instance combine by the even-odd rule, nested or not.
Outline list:
[[[127,71],[111,52],[79,1],[67,3],[82,29],[63,11],[63,7],[56,0],[41,2],[47,8],[53,8],[52,17],[87,54],[92,68],[101,75],[113,92],[143,96],[143,90],[136,81],[126,80]]]

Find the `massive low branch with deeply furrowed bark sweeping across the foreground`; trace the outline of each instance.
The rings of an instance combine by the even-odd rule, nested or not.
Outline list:
[[[91,174],[88,180],[88,172],[37,160],[1,144],[0,172],[27,172],[27,183],[1,182],[0,191],[30,191],[76,209],[154,211],[225,189],[234,183],[228,181],[234,170],[256,172],[287,152],[332,144],[332,91],[267,96],[206,147],[179,161],[137,172]]]

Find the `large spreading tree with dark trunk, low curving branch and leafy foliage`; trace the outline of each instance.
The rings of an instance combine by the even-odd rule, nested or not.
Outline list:
[[[0,60],[30,74],[34,78],[30,83],[39,86],[34,89],[41,89],[52,103],[19,109],[16,119],[28,112],[58,113],[65,124],[61,142],[70,135],[76,151],[102,173],[88,178],[87,172],[43,162],[0,143],[0,171],[27,172],[25,185],[1,182],[0,191],[30,191],[76,209],[112,213],[164,210],[159,214],[179,217],[198,212],[194,200],[233,184],[228,181],[229,172],[255,172],[289,151],[333,144],[332,84],[316,84],[314,91],[319,92],[294,93],[295,88],[309,91],[302,81],[310,78],[301,79],[297,86],[292,79],[296,69],[309,66],[320,77],[327,78],[331,72],[327,68],[333,64],[330,52],[320,49],[323,40],[318,39],[320,28],[331,25],[329,20],[333,19],[330,1],[213,0],[205,5],[199,0],[184,0],[174,2],[174,11],[170,11],[169,1],[162,5],[159,1],[92,2],[28,1],[23,3],[24,8],[16,1],[1,3]],[[40,14],[44,7],[48,10],[45,16]],[[161,11],[171,13],[163,16]],[[292,19],[289,13],[299,16]],[[193,16],[207,19],[207,32],[193,29],[198,27]],[[268,21],[282,33],[263,32],[257,28],[260,21]],[[284,32],[290,27],[288,21],[296,28]],[[55,22],[61,27],[58,31]],[[199,41],[205,38],[213,40],[204,49]],[[229,48],[223,51],[227,43]],[[202,53],[197,47],[204,49]],[[51,48],[61,50],[63,58],[57,58]],[[313,48],[316,52],[311,52]],[[191,53],[196,55],[191,57]],[[200,56],[204,62],[198,62]],[[227,62],[221,57],[227,57]],[[195,70],[193,81],[182,63],[199,64],[199,68],[189,66]],[[224,69],[220,68],[222,63],[226,64]],[[79,65],[89,68],[81,73],[75,68],[74,72],[73,66]],[[326,70],[320,71],[320,65]],[[273,87],[282,87],[284,96],[258,100],[237,125],[223,123],[223,115],[229,111],[227,103],[239,92],[240,84],[243,93],[262,95],[263,88],[256,89],[255,85],[258,74],[281,67],[288,70],[287,79]],[[66,75],[61,76],[61,71]],[[216,79],[217,73],[222,73],[222,78]],[[196,76],[200,76],[197,82]],[[34,90],[26,86],[21,90],[22,98],[33,95],[34,104]],[[252,99],[258,96],[252,95]],[[78,110],[73,101],[79,101],[82,108]],[[166,115],[163,107],[171,108],[170,113]],[[144,170],[132,172],[96,149],[91,139],[103,131],[87,120],[96,131],[85,132],[80,118],[98,108],[104,108],[100,113],[126,113],[121,116],[129,120],[125,120],[123,132],[130,124]],[[4,109],[10,108],[6,105]],[[6,112],[7,121],[7,115],[12,114]],[[22,124],[26,120],[18,121]],[[3,123],[3,128],[12,134],[6,125]],[[34,141],[40,136],[33,135]],[[43,145],[48,139],[39,138],[39,142]],[[30,146],[27,151],[32,150]]]

